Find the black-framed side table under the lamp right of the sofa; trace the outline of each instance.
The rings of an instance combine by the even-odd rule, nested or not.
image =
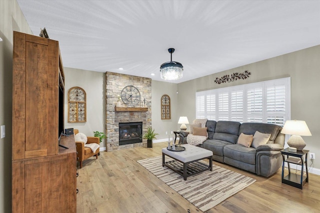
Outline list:
[[[281,174],[281,183],[290,185],[292,187],[296,187],[302,190],[302,186],[305,183],[308,183],[308,166],[307,166],[307,155],[309,150],[301,150],[296,152],[289,152],[289,148],[286,148],[284,150],[281,150],[283,162],[282,162],[282,174]],[[286,156],[286,158],[285,158]],[[292,158],[292,157],[297,158]],[[304,159],[303,159],[303,156]],[[289,174],[285,177],[284,175],[284,164],[285,162],[288,164],[288,171]],[[301,166],[301,174],[294,174],[290,171],[290,164],[296,164]],[[305,171],[306,171],[306,177],[303,176],[303,166],[305,164]]]

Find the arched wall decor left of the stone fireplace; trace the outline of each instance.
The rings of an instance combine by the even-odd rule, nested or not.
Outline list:
[[[68,123],[86,122],[85,91],[72,87],[68,91]]]

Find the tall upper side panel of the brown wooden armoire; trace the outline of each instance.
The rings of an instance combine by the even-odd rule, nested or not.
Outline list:
[[[57,154],[57,42],[14,32],[12,160]]]

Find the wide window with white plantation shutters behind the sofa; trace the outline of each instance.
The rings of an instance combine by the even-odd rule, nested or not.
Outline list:
[[[196,118],[272,123],[290,115],[290,78],[196,92]]]

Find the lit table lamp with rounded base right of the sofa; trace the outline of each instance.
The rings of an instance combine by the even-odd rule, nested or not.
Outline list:
[[[298,151],[301,151],[306,146],[301,136],[311,135],[305,121],[297,120],[285,121],[281,133],[291,135],[287,144],[289,147],[296,148]]]

